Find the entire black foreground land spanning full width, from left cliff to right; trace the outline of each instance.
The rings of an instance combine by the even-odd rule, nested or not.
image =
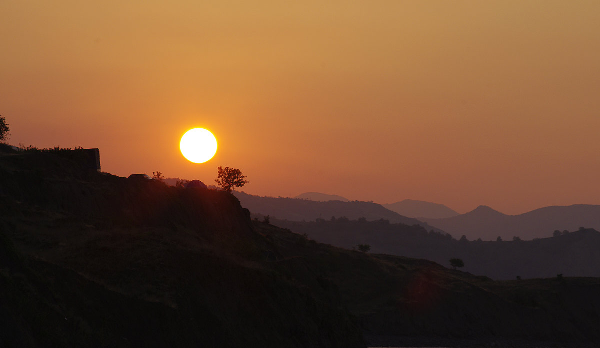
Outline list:
[[[598,346],[600,280],[494,282],[253,221],[227,192],[0,155],[0,346]]]

